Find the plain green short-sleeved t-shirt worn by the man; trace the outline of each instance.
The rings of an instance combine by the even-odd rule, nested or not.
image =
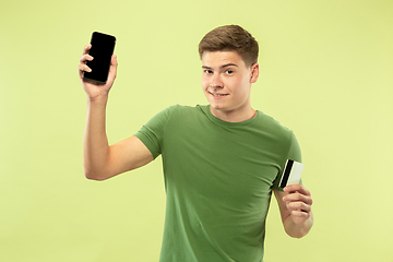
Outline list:
[[[286,159],[301,162],[294,133],[258,111],[243,122],[209,106],[172,106],[135,134],[162,154],[167,194],[160,262],[263,261],[272,189]]]

